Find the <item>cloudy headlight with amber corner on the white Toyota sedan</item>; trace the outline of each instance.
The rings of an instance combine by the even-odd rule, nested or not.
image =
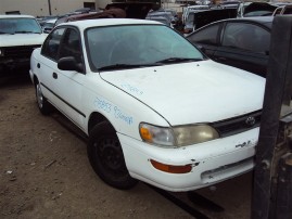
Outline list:
[[[205,124],[167,128],[141,123],[139,131],[143,141],[162,146],[186,146],[219,138],[219,133]]]

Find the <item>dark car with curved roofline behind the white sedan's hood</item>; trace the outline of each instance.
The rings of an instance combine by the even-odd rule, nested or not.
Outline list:
[[[231,18],[187,36],[212,60],[265,77],[274,16]]]

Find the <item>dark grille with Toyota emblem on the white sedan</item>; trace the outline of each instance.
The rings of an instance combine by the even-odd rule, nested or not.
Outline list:
[[[228,137],[258,127],[262,111],[256,111],[230,119],[216,121],[212,126],[219,132],[220,137]]]

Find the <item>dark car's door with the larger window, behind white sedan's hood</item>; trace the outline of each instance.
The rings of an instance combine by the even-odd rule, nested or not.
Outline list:
[[[252,23],[226,23],[221,46],[213,54],[219,63],[264,76],[267,70],[270,33]]]

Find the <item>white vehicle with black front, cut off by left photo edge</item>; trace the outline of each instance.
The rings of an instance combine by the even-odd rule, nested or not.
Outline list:
[[[0,73],[16,67],[29,68],[31,52],[43,42],[47,35],[29,15],[0,15]]]

